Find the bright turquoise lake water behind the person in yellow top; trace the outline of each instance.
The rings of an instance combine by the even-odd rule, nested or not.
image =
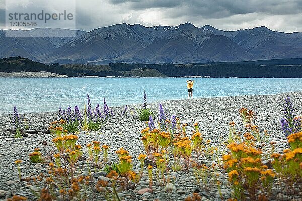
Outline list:
[[[0,114],[58,111],[87,104],[93,107],[143,104],[143,89],[148,102],[186,99],[188,78],[0,78]],[[193,78],[193,98],[277,94],[302,90],[302,79],[269,78]]]

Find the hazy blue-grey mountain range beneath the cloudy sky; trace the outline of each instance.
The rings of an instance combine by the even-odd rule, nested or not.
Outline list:
[[[212,26],[145,27],[117,24],[90,32],[77,30],[75,37],[50,37],[66,29],[37,28],[0,30],[0,58],[22,56],[52,64],[204,63],[302,58],[302,33],[283,33],[267,27],[237,31]],[[36,32],[43,37],[35,37]]]

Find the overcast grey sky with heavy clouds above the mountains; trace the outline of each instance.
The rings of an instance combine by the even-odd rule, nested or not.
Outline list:
[[[70,0],[60,2],[65,1]],[[26,5],[31,0],[18,2]],[[1,29],[5,28],[5,5],[0,0]],[[76,17],[77,29],[85,31],[119,23],[149,27],[190,22],[222,30],[266,26],[290,33],[302,32],[302,0],[77,0]]]

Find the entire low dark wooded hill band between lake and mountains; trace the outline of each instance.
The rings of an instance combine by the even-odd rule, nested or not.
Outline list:
[[[81,76],[139,77],[267,77],[302,78],[302,59],[274,59],[245,62],[215,62],[194,64],[125,64],[109,65],[53,64],[45,65],[22,57],[0,59],[0,72],[40,72]]]

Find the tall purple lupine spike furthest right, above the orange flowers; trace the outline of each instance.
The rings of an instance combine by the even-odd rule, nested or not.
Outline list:
[[[295,131],[294,128],[295,125],[293,120],[296,116],[294,114],[293,105],[290,102],[289,97],[285,98],[285,107],[283,109],[283,112],[284,112],[284,118],[281,119],[281,127],[285,136],[287,137],[288,135],[290,135],[292,132]]]

